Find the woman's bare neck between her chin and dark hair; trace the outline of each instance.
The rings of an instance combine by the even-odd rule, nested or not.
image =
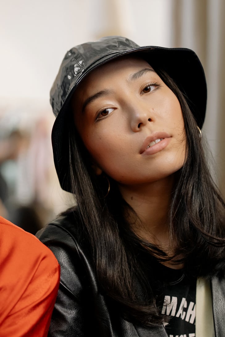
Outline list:
[[[174,175],[160,181],[136,186],[120,185],[124,200],[133,208],[138,220],[132,221],[133,231],[145,241],[172,250],[168,215],[174,186]],[[132,219],[132,214],[128,214]]]

